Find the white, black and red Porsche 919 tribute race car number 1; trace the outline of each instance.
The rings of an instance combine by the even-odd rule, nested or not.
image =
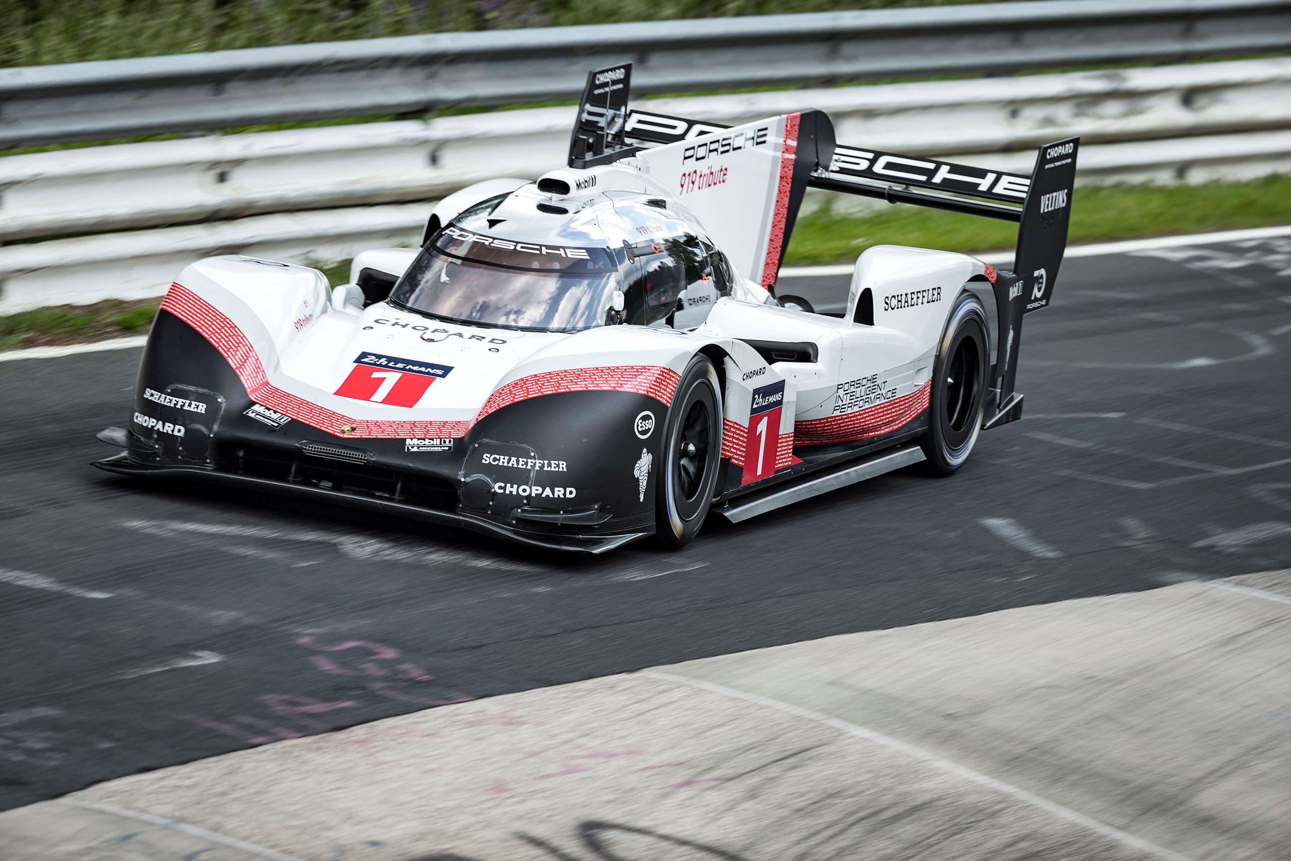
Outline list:
[[[816,110],[629,110],[630,79],[587,76],[567,167],[449,195],[420,249],[363,252],[350,284],[187,266],[129,429],[101,434],[125,451],[96,466],[599,552],[919,461],[949,474],[1021,414],[1022,315],[1053,294],[1078,138],[1025,177],[835,145]],[[808,188],[1017,222],[1013,271],[879,245],[844,314],[784,307]]]

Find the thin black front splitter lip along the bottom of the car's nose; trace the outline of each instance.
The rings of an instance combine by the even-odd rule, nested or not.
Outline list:
[[[106,441],[116,443],[115,439]],[[556,534],[551,532],[532,532],[523,529],[519,525],[510,525],[507,523],[489,520],[471,514],[462,514],[460,511],[442,511],[408,505],[395,500],[321,488],[315,484],[297,484],[252,475],[238,475],[207,466],[187,466],[182,463],[141,463],[125,452],[102,461],[94,461],[93,465],[101,470],[115,472],[117,475],[158,479],[194,479],[229,487],[252,487],[262,492],[292,496],[297,498],[336,502],[367,511],[377,511],[381,514],[392,514],[429,523],[460,527],[532,547],[544,547],[546,550],[571,550],[578,552],[602,554],[649,534],[648,532],[631,532],[621,534],[576,534],[564,532]]]

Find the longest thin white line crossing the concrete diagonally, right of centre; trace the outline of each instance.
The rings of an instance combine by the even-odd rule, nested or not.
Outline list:
[[[846,732],[857,738],[865,738],[866,741],[873,741],[875,744],[883,745],[892,750],[901,751],[917,759],[920,759],[930,765],[940,768],[951,775],[957,775],[966,780],[970,780],[980,786],[993,789],[1004,795],[1011,795],[1020,802],[1037,807],[1042,811],[1059,816],[1069,822],[1075,822],[1077,825],[1083,825],[1091,831],[1096,831],[1105,838],[1123,843],[1124,846],[1139,849],[1140,852],[1146,852],[1154,855],[1158,858],[1168,858],[1170,861],[1189,861],[1186,856],[1179,855],[1177,852],[1171,852],[1163,847],[1150,843],[1140,836],[1135,836],[1127,831],[1101,822],[1092,816],[1086,816],[1078,811],[1073,811],[1070,807],[1064,807],[1057,802],[1051,802],[1047,798],[1042,798],[1034,793],[1030,793],[1020,786],[1013,786],[1012,784],[1006,784],[1002,780],[997,780],[981,772],[973,771],[967,765],[961,765],[957,762],[951,762],[944,756],[939,756],[932,751],[918,747],[906,741],[899,741],[891,736],[884,736],[883,733],[874,732],[873,729],[866,729],[865,727],[859,727],[857,724],[840,720],[838,718],[830,718],[826,714],[818,711],[812,711],[811,709],[803,709],[800,706],[790,705],[788,702],[781,702],[780,700],[772,700],[771,697],[763,697],[757,693],[749,693],[746,691],[738,691],[736,688],[728,688],[723,684],[715,684],[713,682],[701,682],[700,679],[691,679],[684,675],[673,675],[671,673],[662,673],[660,670],[642,670],[642,675],[653,676],[656,679],[662,679],[665,682],[673,682],[676,684],[688,684],[691,687],[701,688],[711,693],[718,693],[724,697],[731,697],[732,700],[744,700],[745,702],[751,702],[754,705],[764,706],[767,709],[775,709],[776,711],[782,711],[785,714],[795,715],[798,718],[806,718],[807,720],[815,720],[826,727],[833,727],[840,732]]]

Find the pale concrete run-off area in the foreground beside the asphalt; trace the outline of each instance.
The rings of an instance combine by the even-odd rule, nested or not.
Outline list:
[[[0,815],[5,858],[1286,857],[1291,571],[498,696]]]

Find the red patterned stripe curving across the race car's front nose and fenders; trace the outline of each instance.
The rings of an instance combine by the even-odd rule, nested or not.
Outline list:
[[[484,409],[470,422],[466,421],[373,421],[351,418],[269,382],[265,365],[232,320],[213,305],[179,284],[172,284],[161,310],[169,311],[201,337],[210,342],[232,367],[253,401],[284,416],[305,422],[334,436],[396,439],[438,436],[457,439],[466,436],[471,425],[491,412],[537,395],[562,391],[634,391],[670,404],[680,382],[676,372],[657,365],[629,365],[622,368],[576,368],[522,377],[498,389],[484,404]],[[352,429],[342,434],[342,429]]]

